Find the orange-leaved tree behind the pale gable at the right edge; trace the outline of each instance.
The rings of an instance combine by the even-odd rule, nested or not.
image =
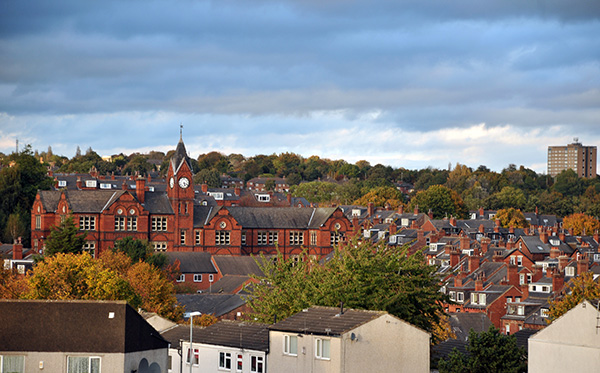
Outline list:
[[[563,290],[563,295],[550,302],[548,322],[552,322],[578,305],[584,299],[600,299],[600,282],[592,272],[573,278]]]

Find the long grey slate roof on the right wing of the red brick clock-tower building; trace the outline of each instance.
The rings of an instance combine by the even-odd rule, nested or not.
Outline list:
[[[307,229],[319,228],[336,210],[297,207],[227,207],[244,228]]]

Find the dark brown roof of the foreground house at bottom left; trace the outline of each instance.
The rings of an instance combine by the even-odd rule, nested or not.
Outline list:
[[[129,353],[168,348],[125,301],[4,299],[0,315],[2,351]]]

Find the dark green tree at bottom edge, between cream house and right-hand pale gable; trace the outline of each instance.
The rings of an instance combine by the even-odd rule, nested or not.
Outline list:
[[[454,349],[439,361],[440,373],[527,372],[527,353],[517,346],[514,335],[500,334],[491,326],[487,332],[469,332],[467,355]]]

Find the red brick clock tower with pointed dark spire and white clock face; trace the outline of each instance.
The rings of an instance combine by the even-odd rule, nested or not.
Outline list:
[[[175,214],[173,233],[176,251],[190,251],[194,243],[194,184],[192,164],[180,134],[167,171],[167,197]]]

